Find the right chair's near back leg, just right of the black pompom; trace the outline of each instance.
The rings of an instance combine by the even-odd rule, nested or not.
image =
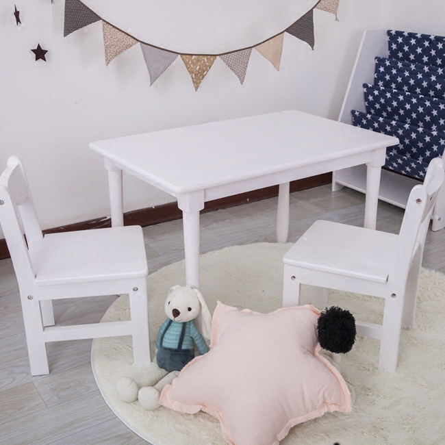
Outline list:
[[[387,297],[381,331],[379,370],[395,372],[398,359],[398,344],[401,338],[403,317],[403,294]]]

